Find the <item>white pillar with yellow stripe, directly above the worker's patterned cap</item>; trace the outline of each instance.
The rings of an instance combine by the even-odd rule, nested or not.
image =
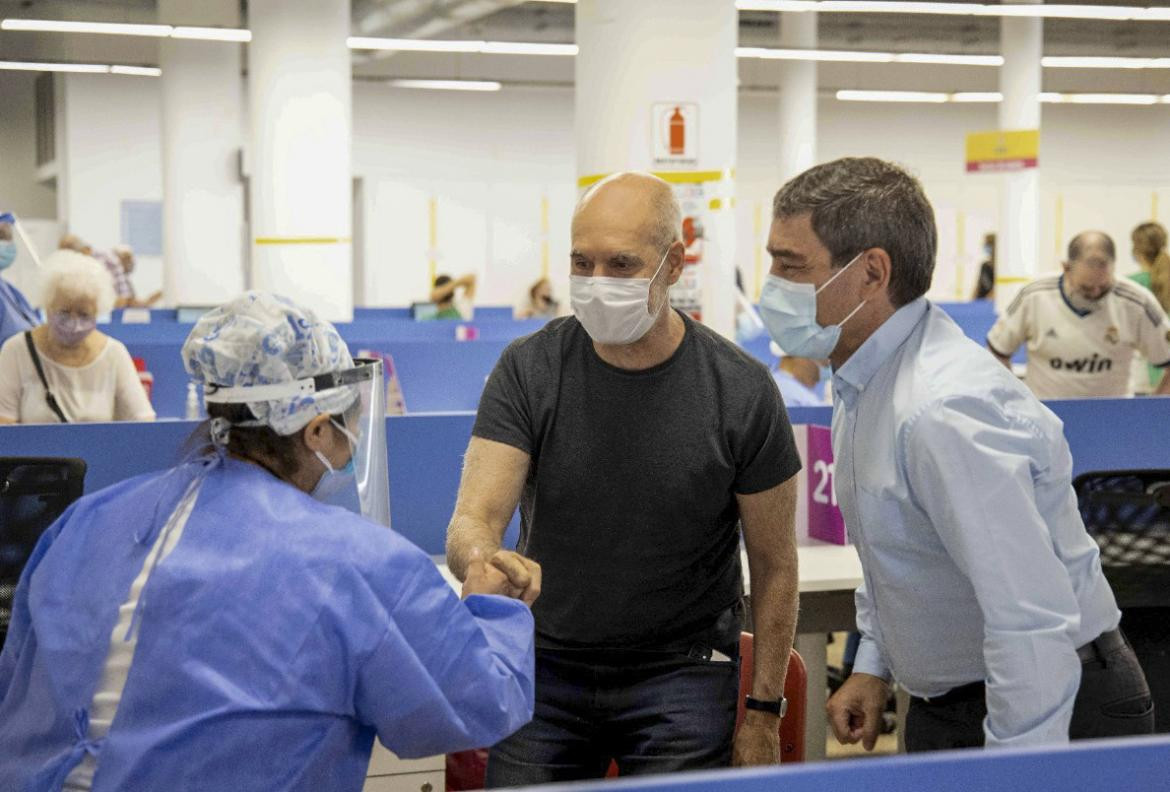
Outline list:
[[[349,0],[250,0],[252,285],[353,318]]]

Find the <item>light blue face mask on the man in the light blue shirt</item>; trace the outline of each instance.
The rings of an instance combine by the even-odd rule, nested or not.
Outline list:
[[[817,295],[828,288],[841,274],[852,267],[858,259],[842,267],[825,281],[819,289],[811,283],[793,283],[776,275],[769,275],[764,290],[759,295],[759,316],[772,337],[785,354],[797,358],[827,358],[837,349],[841,339],[841,328],[861,310],[866,301],[861,301],[840,324],[823,328],[817,323]]]

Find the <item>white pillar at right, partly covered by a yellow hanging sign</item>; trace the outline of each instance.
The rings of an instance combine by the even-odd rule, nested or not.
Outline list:
[[[1019,4],[1027,0],[1005,0]],[[1044,21],[1003,18],[999,43],[999,129],[1040,129],[1040,56]],[[996,236],[996,309],[1003,311],[1035,277],[1040,262],[1040,171],[1030,168],[1002,177],[999,230]]]

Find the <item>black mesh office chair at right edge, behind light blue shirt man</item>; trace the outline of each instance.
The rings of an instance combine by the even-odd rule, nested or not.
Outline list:
[[[1155,730],[1170,732],[1170,470],[1086,473],[1073,489],[1150,684]]]

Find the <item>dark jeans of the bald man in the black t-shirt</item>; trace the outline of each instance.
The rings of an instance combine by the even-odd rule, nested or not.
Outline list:
[[[673,650],[537,649],[535,716],[491,749],[487,787],[603,778],[611,760],[622,776],[727,767],[738,625],[734,635]]]

